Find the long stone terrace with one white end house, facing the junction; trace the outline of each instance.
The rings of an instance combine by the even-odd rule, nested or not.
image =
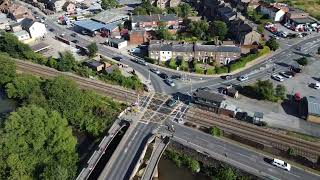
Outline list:
[[[183,59],[185,61],[216,61],[217,64],[226,65],[241,56],[241,49],[235,45],[202,45],[196,43],[150,41],[148,47],[149,57],[158,61],[170,59]]]

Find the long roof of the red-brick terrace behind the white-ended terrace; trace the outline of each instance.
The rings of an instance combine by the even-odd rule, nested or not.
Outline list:
[[[155,15],[136,15],[132,16],[132,22],[138,23],[138,22],[153,22],[153,21],[177,21],[178,17],[175,14],[155,14]]]

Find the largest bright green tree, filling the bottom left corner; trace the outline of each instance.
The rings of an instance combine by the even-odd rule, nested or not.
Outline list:
[[[3,179],[74,179],[76,139],[59,113],[37,106],[13,112],[0,131]]]

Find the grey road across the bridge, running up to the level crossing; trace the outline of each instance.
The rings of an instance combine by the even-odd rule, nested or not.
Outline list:
[[[119,156],[111,157],[103,169],[99,180],[129,180],[135,165],[148,141],[151,137],[155,124],[138,123],[135,130],[130,134],[124,147],[120,150]]]

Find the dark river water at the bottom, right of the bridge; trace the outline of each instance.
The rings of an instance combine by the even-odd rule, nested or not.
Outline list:
[[[177,167],[174,162],[163,156],[159,162],[159,180],[210,180],[200,174],[192,174],[185,167]]]

